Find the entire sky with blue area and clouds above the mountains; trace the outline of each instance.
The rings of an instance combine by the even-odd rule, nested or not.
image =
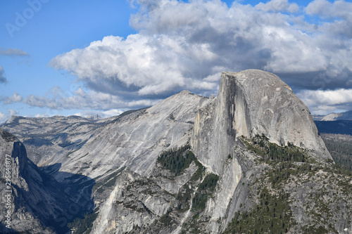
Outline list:
[[[351,1],[0,0],[0,123],[119,115],[223,71],[277,74],[315,115],[352,110]]]

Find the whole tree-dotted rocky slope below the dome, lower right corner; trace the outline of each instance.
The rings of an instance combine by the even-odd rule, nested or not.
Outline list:
[[[255,204],[250,209],[244,207],[236,212],[224,233],[289,233],[293,230],[297,233],[337,233],[334,223],[341,213],[333,204],[342,207],[351,204],[348,193],[352,189],[351,176],[341,174],[341,169],[334,167],[332,162],[316,162],[306,150],[292,143],[282,147],[258,135],[251,139],[242,137],[241,141],[259,155],[257,164],[265,163],[268,167],[249,187]],[[300,206],[297,209],[309,217],[308,226],[298,228],[292,205]]]

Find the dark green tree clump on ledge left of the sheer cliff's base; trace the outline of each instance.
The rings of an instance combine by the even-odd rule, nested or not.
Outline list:
[[[179,175],[188,168],[192,161],[196,159],[193,152],[190,151],[191,146],[184,145],[178,149],[174,148],[162,152],[158,157],[158,162],[165,168]]]

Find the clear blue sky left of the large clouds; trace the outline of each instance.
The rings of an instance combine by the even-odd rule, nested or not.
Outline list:
[[[36,3],[37,1],[30,1]],[[135,33],[129,27],[130,14],[135,11],[127,1],[39,1],[39,11],[28,19],[20,30],[9,34],[6,23],[16,25],[16,13],[31,8],[27,1],[0,1],[0,47],[3,50],[17,48],[28,56],[0,56],[0,65],[5,70],[8,82],[0,86],[1,96],[20,93],[43,96],[54,86],[68,91],[77,85],[75,77],[58,72],[48,66],[51,58],[73,48],[84,48],[91,41],[107,35]],[[12,36],[12,37],[11,37]],[[15,110],[18,115],[48,114],[73,115],[78,110],[49,110],[14,103],[1,105],[0,112]]]

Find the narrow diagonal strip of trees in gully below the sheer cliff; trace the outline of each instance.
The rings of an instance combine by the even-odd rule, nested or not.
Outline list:
[[[208,197],[213,194],[218,179],[219,176],[215,174],[208,174],[204,178],[192,199],[192,209],[203,210],[206,208],[206,201]]]

